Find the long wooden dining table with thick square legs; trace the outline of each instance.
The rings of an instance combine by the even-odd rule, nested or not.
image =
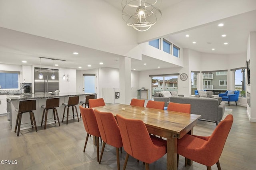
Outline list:
[[[192,134],[193,127],[201,117],[200,115],[123,104],[105,105],[94,107],[94,109],[111,112],[115,117],[119,114],[128,119],[142,120],[149,133],[166,138],[166,169],[168,170],[177,169],[177,140],[187,133]]]

